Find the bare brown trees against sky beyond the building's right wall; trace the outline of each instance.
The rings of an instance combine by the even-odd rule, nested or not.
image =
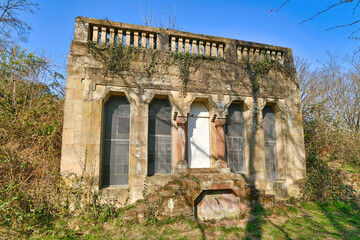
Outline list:
[[[295,66],[305,119],[318,119],[339,129],[359,131],[360,64],[358,57],[341,59],[328,53],[327,61],[312,69],[304,59]]]

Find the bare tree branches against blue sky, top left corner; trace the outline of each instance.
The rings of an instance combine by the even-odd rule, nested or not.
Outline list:
[[[14,32],[21,41],[26,41],[31,27],[19,18],[19,14],[34,13],[37,8],[38,4],[31,0],[0,0],[0,45],[11,41]]]

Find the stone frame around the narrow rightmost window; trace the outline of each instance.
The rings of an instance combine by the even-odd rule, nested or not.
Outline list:
[[[284,182],[286,180],[287,158],[285,153],[285,107],[284,99],[265,98],[264,105],[261,108],[261,123],[263,126],[263,109],[265,106],[271,107],[275,114],[275,131],[276,131],[276,157],[278,167],[278,178],[268,179],[266,176],[265,164],[265,180],[267,182]],[[265,139],[263,141],[264,161],[265,160]]]

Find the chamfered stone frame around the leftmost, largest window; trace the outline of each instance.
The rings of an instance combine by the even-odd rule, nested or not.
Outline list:
[[[126,100],[129,102],[130,106],[130,123],[129,123],[129,182],[127,185],[109,185],[104,186],[102,184],[102,166],[103,166],[103,158],[104,158],[104,124],[105,124],[105,103],[112,97],[112,96],[120,96],[125,97]],[[129,96],[129,93],[126,91],[108,91],[105,96],[101,100],[101,127],[100,127],[100,136],[101,136],[101,144],[100,144],[100,151],[99,151],[99,164],[98,164],[98,186],[100,189],[109,189],[109,188],[128,188],[131,185],[131,140],[132,140],[132,132],[131,132],[131,105],[133,104],[132,99]]]

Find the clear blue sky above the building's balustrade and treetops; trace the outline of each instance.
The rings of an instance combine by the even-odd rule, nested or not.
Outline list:
[[[284,0],[285,1],[285,0]],[[326,28],[350,22],[352,6],[338,7],[316,19],[299,24],[324,9],[330,0],[291,0],[276,13],[282,0],[207,0],[150,1],[151,9],[162,18],[163,10],[175,12],[181,30],[246,41],[255,41],[293,49],[294,55],[316,65],[326,59],[326,51],[338,55],[353,54],[360,40],[348,40],[355,28],[326,31]],[[112,21],[142,24],[139,8],[148,10],[148,0],[38,0],[35,15],[21,17],[32,26],[30,51],[46,55],[64,66],[73,39],[75,17],[108,18]],[[352,4],[354,5],[354,4]],[[360,26],[359,26],[360,27]],[[63,72],[63,71],[61,71]]]

